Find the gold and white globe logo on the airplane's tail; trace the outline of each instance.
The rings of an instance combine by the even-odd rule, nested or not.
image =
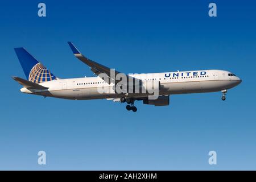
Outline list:
[[[28,80],[39,84],[44,81],[56,80],[56,77],[43,64],[38,63],[31,69]]]

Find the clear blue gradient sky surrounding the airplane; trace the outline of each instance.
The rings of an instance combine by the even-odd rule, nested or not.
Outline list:
[[[256,169],[255,1],[3,1],[0,6],[0,169]],[[217,18],[208,16],[210,2]],[[67,41],[125,73],[224,69],[242,84],[171,96],[137,113],[107,100],[19,92],[25,47],[57,77],[93,76]],[[38,151],[47,154],[40,166]],[[217,152],[217,165],[208,152]]]

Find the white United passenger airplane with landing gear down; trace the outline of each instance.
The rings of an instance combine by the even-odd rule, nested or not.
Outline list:
[[[58,78],[30,55],[26,49],[23,47],[14,48],[27,77],[27,80],[13,77],[15,81],[23,86],[20,92],[68,100],[113,100],[127,103],[126,109],[136,112],[135,101],[143,101],[143,104],[154,106],[167,106],[170,104],[170,95],[173,94],[222,92],[221,99],[225,101],[228,89],[234,88],[242,82],[233,73],[217,69],[125,74],[88,59],[82,55],[73,43],[68,42],[68,44],[75,57],[87,64],[94,75],[97,76]],[[121,84],[121,79],[115,79],[115,76],[113,76],[118,74],[126,78]],[[119,86],[121,92],[117,92],[117,86]],[[134,92],[135,86],[139,88],[137,89],[139,92]],[[106,90],[99,92],[101,88]],[[146,92],[144,92],[145,90]],[[152,90],[157,91],[157,96],[154,98],[152,95],[155,93],[151,92]]]

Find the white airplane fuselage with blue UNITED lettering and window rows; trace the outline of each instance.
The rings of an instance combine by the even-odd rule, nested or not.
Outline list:
[[[222,70],[201,70],[185,72],[133,74],[131,77],[140,80],[160,81],[159,95],[219,92],[240,84],[237,76],[229,76],[230,72]],[[42,82],[47,90],[20,89],[21,92],[37,94],[45,97],[57,97],[70,100],[92,100],[102,98],[121,98],[122,94],[115,92],[100,93],[98,88],[113,89],[114,84],[104,82],[100,77],[68,78]],[[131,97],[141,97],[141,94],[131,94]],[[128,95],[129,97],[129,95]]]

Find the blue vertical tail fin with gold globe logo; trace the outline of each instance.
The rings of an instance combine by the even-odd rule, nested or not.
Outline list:
[[[28,81],[38,84],[44,81],[56,80],[56,77],[43,64],[39,63],[35,57],[28,53],[26,49],[19,47],[14,48],[14,50]]]

